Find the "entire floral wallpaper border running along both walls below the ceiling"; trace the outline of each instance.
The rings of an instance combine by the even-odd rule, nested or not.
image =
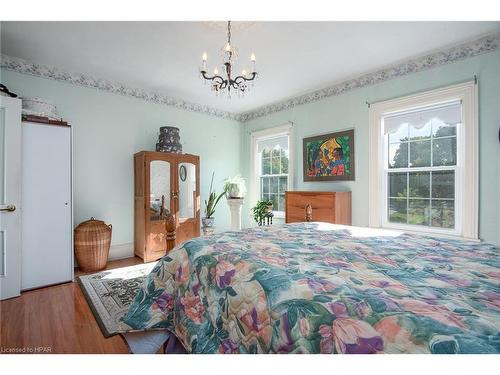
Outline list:
[[[388,81],[393,78],[402,77],[411,73],[421,72],[437,66],[450,64],[469,57],[492,52],[500,47],[500,33],[491,34],[479,39],[463,43],[461,45],[445,50],[433,52],[425,56],[410,59],[408,61],[391,65],[378,71],[361,75],[332,86],[311,91],[304,95],[292,97],[273,104],[265,105],[255,110],[245,113],[231,113],[222,111],[210,106],[192,103],[183,99],[148,92],[142,89],[128,87],[119,82],[112,82],[105,79],[94,78],[81,73],[70,73],[40,64],[28,62],[26,60],[1,55],[0,67],[18,73],[29,74],[36,77],[54,79],[78,86],[93,87],[113,94],[119,94],[146,100],[152,103],[168,105],[191,112],[199,112],[216,116],[223,119],[231,119],[240,122],[250,121],[275,112],[285,111],[301,104],[312,103],[330,96],[344,94],[348,91],[367,87]]]

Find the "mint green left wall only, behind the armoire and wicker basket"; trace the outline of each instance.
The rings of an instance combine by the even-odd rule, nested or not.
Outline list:
[[[160,126],[179,127],[183,152],[200,156],[202,199],[212,171],[219,190],[224,178],[239,173],[241,126],[236,121],[11,71],[0,73],[0,81],[11,91],[52,101],[72,125],[75,225],[91,216],[112,223],[114,245],[133,242],[133,155],[155,149]],[[219,203],[215,217],[218,230],[229,229],[226,202]]]

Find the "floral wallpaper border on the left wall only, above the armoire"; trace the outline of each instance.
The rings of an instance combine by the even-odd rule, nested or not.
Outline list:
[[[92,87],[112,94],[129,96],[152,103],[168,105],[191,112],[204,113],[223,119],[239,119],[239,116],[234,113],[222,111],[203,104],[192,103],[183,99],[173,98],[155,92],[148,92],[142,89],[126,86],[119,82],[95,78],[86,74],[66,72],[56,67],[31,63],[18,57],[2,54],[0,67],[18,73],[54,79],[56,81],[62,81],[83,87]]]

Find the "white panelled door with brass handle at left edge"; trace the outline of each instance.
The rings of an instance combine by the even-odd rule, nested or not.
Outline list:
[[[21,290],[21,100],[0,96],[0,299]]]

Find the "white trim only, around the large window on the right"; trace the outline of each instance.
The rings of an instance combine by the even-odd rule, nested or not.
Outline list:
[[[462,134],[457,133],[457,183],[456,231],[439,228],[421,227],[405,224],[387,223],[384,219],[387,199],[385,194],[384,171],[382,164],[384,134],[382,117],[393,113],[411,110],[436,103],[460,100],[462,102]],[[403,98],[387,100],[370,105],[369,109],[369,217],[370,227],[389,227],[405,231],[448,234],[467,239],[478,239],[478,93],[474,81],[426,91]],[[462,142],[466,139],[467,142]],[[461,199],[460,199],[461,198]]]

